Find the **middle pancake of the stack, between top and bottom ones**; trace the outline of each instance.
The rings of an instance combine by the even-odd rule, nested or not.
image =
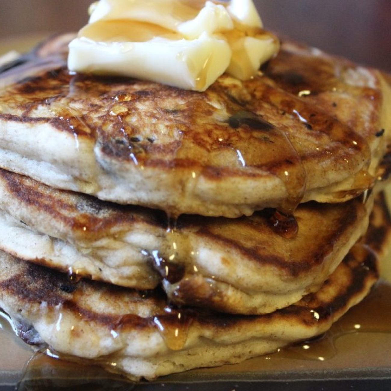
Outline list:
[[[291,239],[275,233],[270,210],[239,219],[183,215],[167,230],[162,212],[0,169],[0,249],[73,278],[136,289],[161,283],[177,305],[262,314],[317,291],[367,230],[372,204],[372,196],[365,204],[301,204]]]

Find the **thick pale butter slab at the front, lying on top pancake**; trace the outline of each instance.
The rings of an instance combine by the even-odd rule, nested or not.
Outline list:
[[[224,72],[230,59],[226,41],[207,34],[192,41],[154,38],[135,43],[79,38],[70,43],[68,66],[76,72],[127,75],[203,91]]]

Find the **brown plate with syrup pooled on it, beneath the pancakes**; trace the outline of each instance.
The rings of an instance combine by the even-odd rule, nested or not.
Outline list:
[[[391,284],[371,294],[317,341],[241,364],[188,371],[134,384],[95,366],[34,353],[0,322],[1,390],[326,391],[391,389]],[[16,387],[16,388],[15,388]]]

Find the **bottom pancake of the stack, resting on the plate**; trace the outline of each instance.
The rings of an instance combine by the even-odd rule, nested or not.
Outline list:
[[[43,352],[91,360],[133,379],[240,362],[326,332],[369,292],[391,227],[383,203],[375,206],[375,216],[364,240],[318,292],[263,316],[179,311],[167,307],[157,291],[72,283],[65,274],[5,253],[0,305],[19,335]]]

